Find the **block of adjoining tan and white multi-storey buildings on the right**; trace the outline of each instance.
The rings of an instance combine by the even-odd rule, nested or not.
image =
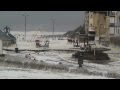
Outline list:
[[[86,11],[85,31],[89,37],[94,38],[94,41],[98,40],[99,43],[109,44],[117,39],[119,43],[120,11]]]

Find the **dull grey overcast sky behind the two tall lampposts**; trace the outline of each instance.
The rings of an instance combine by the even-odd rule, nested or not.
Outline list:
[[[84,22],[83,11],[0,11],[0,29],[8,25],[11,30],[24,30],[23,14],[28,14],[27,30],[52,31],[51,18],[55,20],[55,31],[74,30]]]

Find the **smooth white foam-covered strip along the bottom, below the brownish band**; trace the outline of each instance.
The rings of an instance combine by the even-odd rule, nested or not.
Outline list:
[[[107,79],[102,76],[0,67],[0,79]]]

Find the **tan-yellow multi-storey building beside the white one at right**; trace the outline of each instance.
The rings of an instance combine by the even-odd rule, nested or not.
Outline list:
[[[85,12],[85,31],[89,37],[95,38],[106,35],[106,16],[106,11]]]

